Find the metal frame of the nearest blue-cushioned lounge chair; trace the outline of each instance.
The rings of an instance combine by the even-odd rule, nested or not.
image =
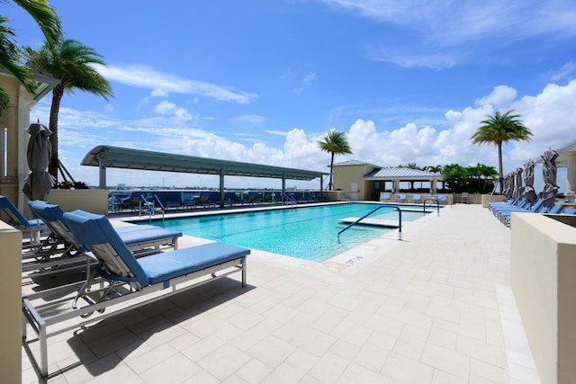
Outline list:
[[[235,272],[241,272],[242,287],[246,287],[246,258],[250,253],[247,248],[238,247],[238,251],[235,251],[226,261],[220,260],[220,262],[205,266],[202,269],[142,286],[140,281],[131,273],[128,262],[122,258],[125,257],[125,254],[124,256],[121,255],[124,251],[117,250],[112,244],[88,245],[91,252],[86,253],[86,255],[94,258],[98,265],[87,281],[23,295],[23,345],[30,355],[31,361],[38,365],[42,377],[48,376],[49,336],[59,335],[70,329],[83,327],[106,317],[112,317],[160,299],[166,299],[176,293],[193,289],[208,281],[221,279]],[[211,246],[218,245],[212,243],[192,248],[202,252],[202,249]],[[175,252],[184,252],[184,250]],[[76,294],[71,297],[73,292]],[[152,295],[153,293],[157,293],[157,295]],[[55,308],[62,308],[67,301],[71,301],[70,308],[56,313]],[[108,311],[104,313],[106,309]],[[91,318],[73,324],[61,325],[61,323],[76,317]],[[26,341],[27,323],[30,324],[38,337],[40,361],[37,361],[34,353],[31,352],[29,344],[33,340]],[[49,327],[57,325],[61,326],[49,331]]]

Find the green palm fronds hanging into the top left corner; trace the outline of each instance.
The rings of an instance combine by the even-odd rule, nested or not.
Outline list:
[[[7,0],[0,0],[7,3]],[[56,11],[52,8],[48,0],[14,0],[14,3],[21,6],[29,13],[40,27],[40,31],[49,44],[56,44],[62,38],[60,20]],[[0,16],[0,67],[7,69],[30,94],[34,94],[38,88],[38,83],[29,67],[23,65],[22,54],[15,41],[14,30],[5,24],[10,22],[5,16]],[[10,103],[10,97],[0,87],[0,114],[4,113]]]

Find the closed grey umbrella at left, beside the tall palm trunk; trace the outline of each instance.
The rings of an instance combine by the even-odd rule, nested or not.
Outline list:
[[[40,122],[30,124],[26,131],[30,133],[26,156],[31,173],[26,176],[22,191],[30,200],[46,201],[54,185],[54,178],[47,171],[52,154],[49,142],[52,132]]]

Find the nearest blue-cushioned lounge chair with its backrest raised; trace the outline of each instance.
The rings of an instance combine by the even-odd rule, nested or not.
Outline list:
[[[47,338],[63,332],[62,328],[85,326],[235,272],[241,272],[242,287],[246,286],[246,258],[250,254],[247,248],[210,243],[137,259],[104,216],[76,211],[65,213],[64,219],[76,241],[88,248],[97,265],[90,279],[74,285],[77,293],[69,309],[56,310],[63,307],[62,292],[69,292],[72,286],[23,295],[23,318],[38,334],[42,377],[48,376]],[[55,303],[51,302],[54,300],[58,300],[60,307],[54,308]],[[104,312],[105,309],[108,311]],[[71,324],[68,320],[75,317],[91,318]],[[67,324],[60,324],[64,321]],[[47,327],[53,325],[58,327],[50,334]],[[27,328],[23,326],[26,347]]]

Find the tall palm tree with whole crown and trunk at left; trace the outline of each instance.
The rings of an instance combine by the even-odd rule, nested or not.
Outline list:
[[[27,47],[24,53],[28,64],[39,71],[49,73],[60,82],[52,90],[49,129],[52,145],[52,158],[49,174],[58,181],[58,113],[64,92],[73,94],[76,89],[102,96],[113,97],[112,86],[96,69],[94,64],[105,66],[102,55],[76,40],[61,40],[55,46],[45,43],[39,50]]]

